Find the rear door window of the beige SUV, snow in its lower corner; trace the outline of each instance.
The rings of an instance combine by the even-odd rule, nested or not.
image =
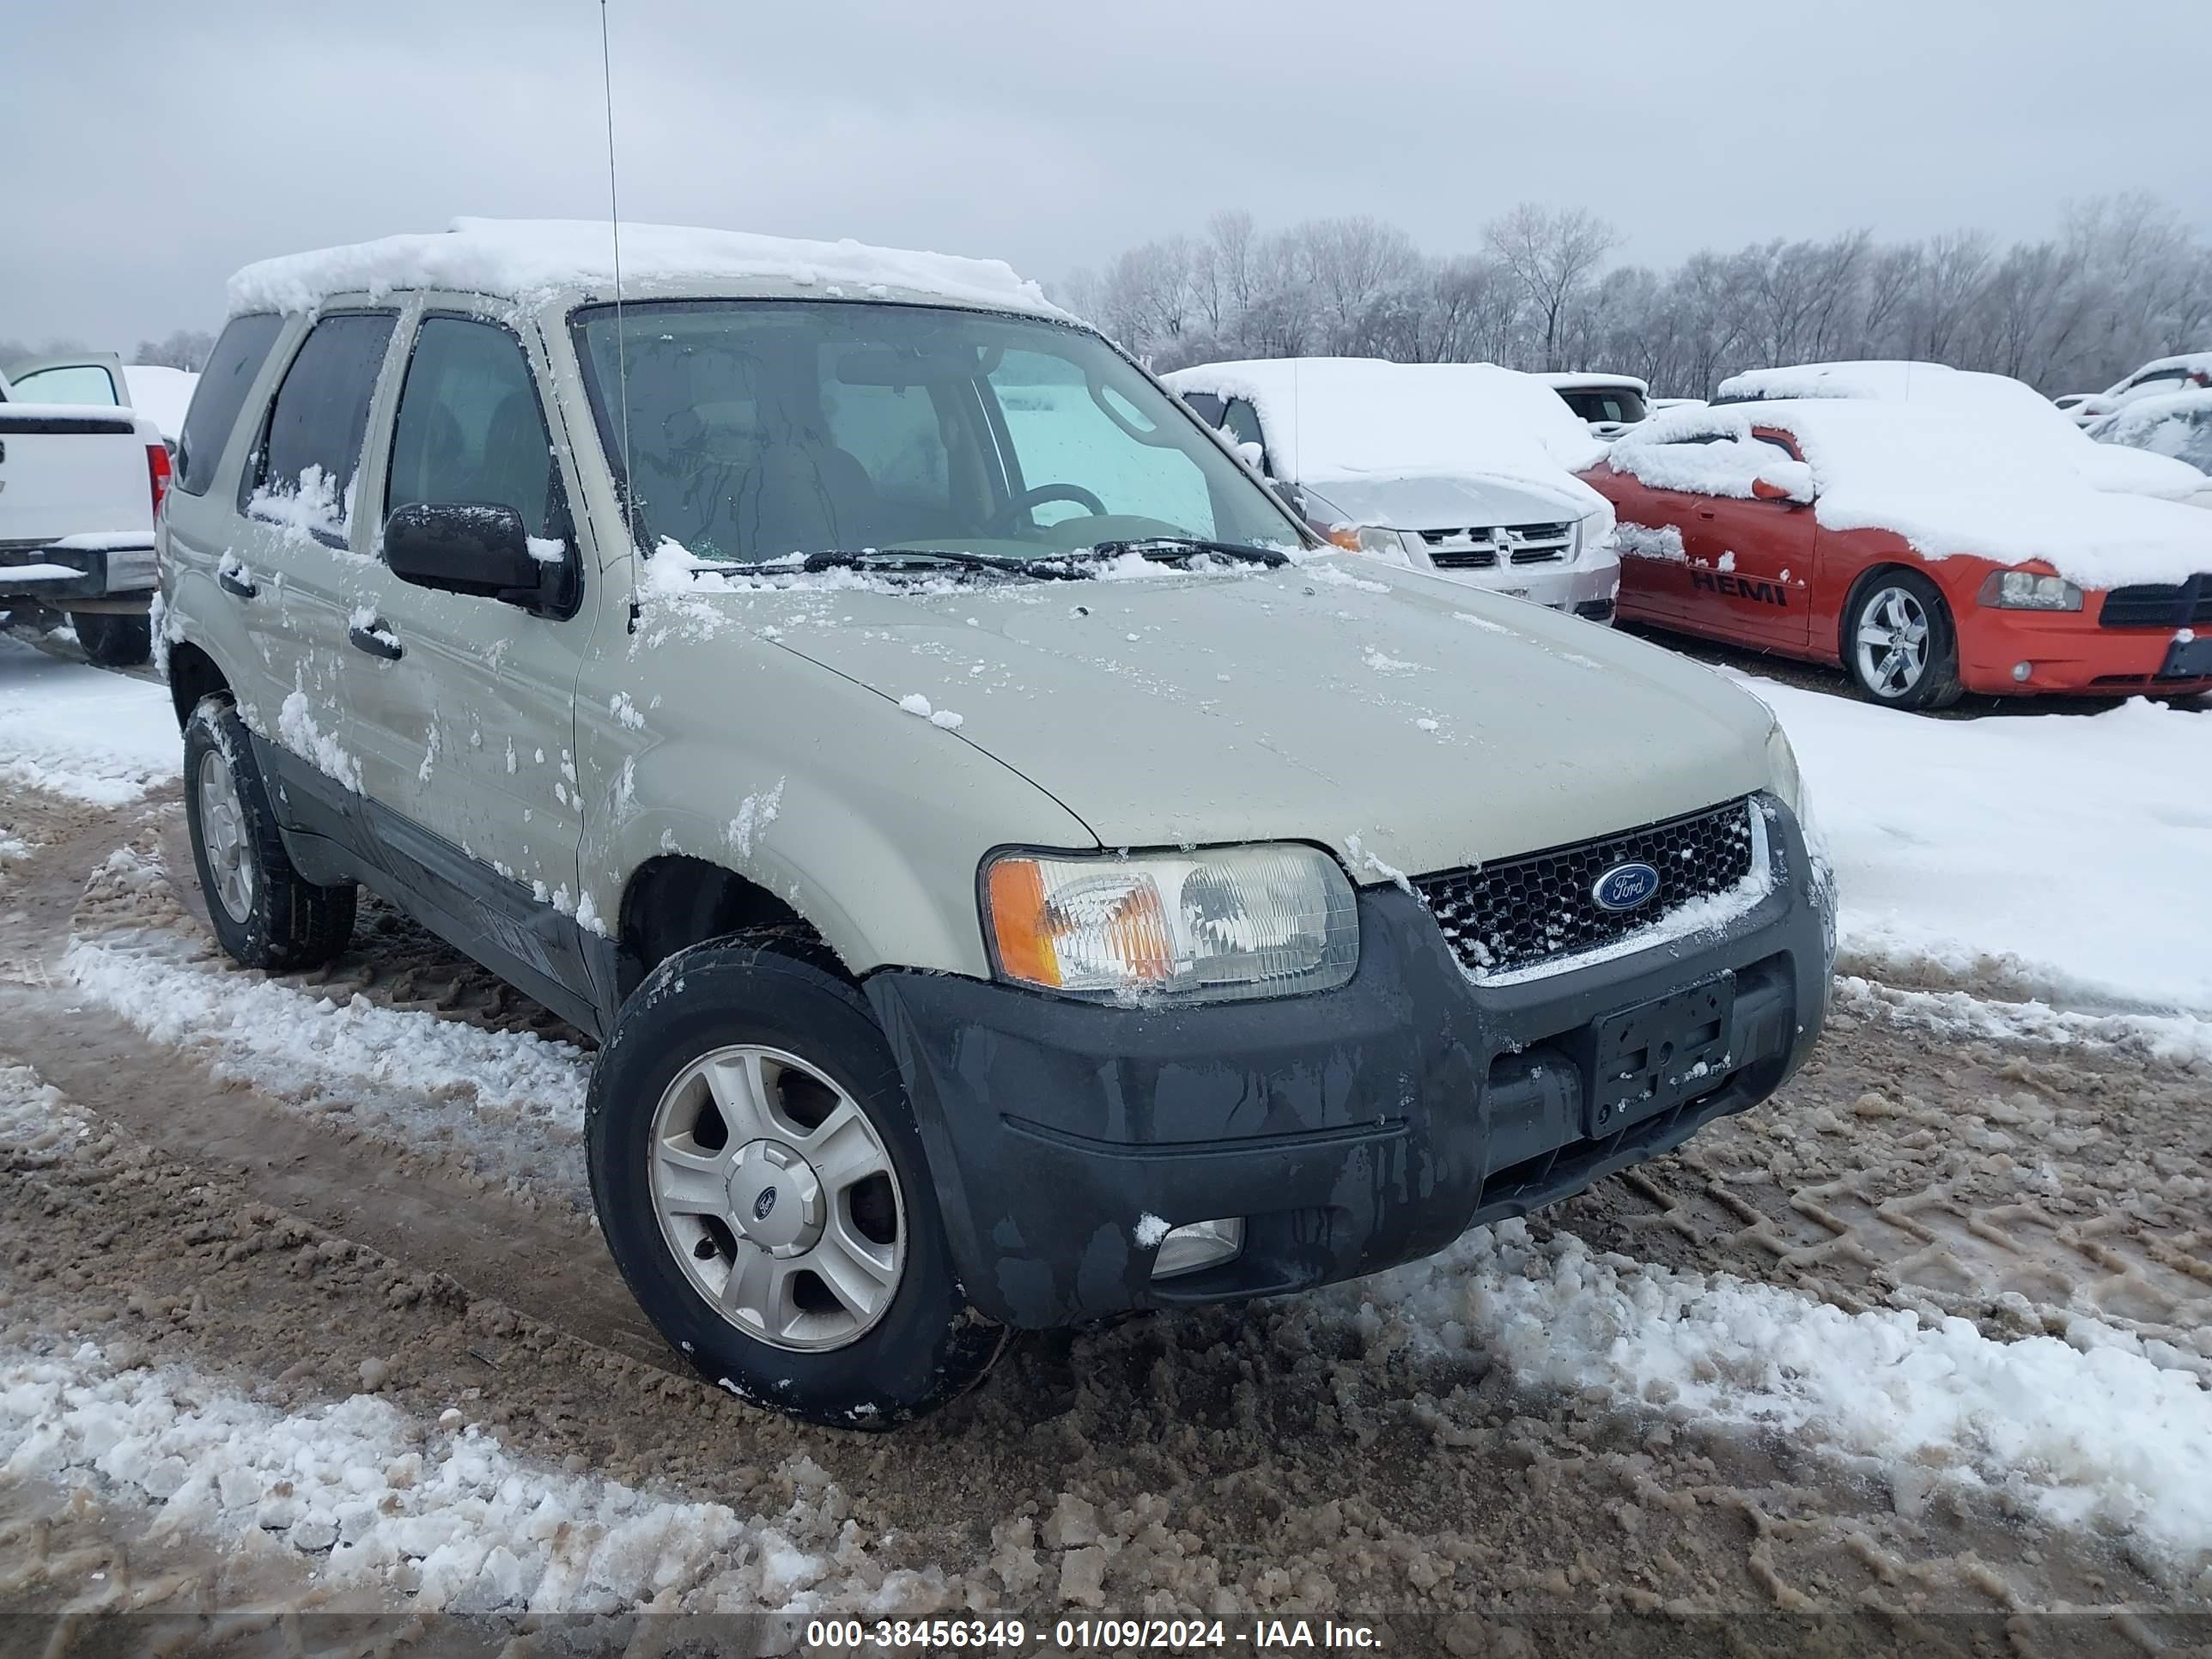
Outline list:
[[[394,321],[389,312],[345,312],[307,332],[270,405],[259,465],[239,480],[241,504],[257,518],[345,546],[369,396]]]

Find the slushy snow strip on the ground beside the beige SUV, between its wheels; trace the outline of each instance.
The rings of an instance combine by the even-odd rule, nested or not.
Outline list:
[[[566,1042],[208,973],[71,940],[62,971],[155,1042],[276,1099],[407,1146],[458,1139],[487,1175],[582,1192],[591,1064]],[[568,1150],[564,1150],[568,1148]]]

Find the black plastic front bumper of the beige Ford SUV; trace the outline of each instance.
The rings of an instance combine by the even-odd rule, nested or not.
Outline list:
[[[1338,991],[1124,1009],[887,969],[898,1055],[969,1301],[1020,1327],[1310,1290],[1433,1254],[1756,1106],[1820,1033],[1834,916],[1772,807],[1774,889],[1728,927],[1509,987],[1411,894],[1360,894]],[[1730,973],[1728,1064],[1606,1130],[1608,1015]],[[1139,1223],[1243,1217],[1243,1252],[1152,1279]],[[1152,1237],[1157,1228],[1144,1228]]]

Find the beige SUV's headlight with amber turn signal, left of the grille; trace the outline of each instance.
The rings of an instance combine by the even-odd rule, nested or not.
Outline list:
[[[1360,962],[1352,883],[1314,847],[1018,852],[984,865],[982,900],[1002,980],[1097,1002],[1327,991]]]

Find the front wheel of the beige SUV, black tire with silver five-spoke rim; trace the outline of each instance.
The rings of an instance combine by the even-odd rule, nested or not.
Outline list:
[[[889,1429],[1006,1340],[953,1272],[876,1018],[799,953],[737,936],[661,962],[599,1048],[584,1144],[630,1294],[741,1400]]]

